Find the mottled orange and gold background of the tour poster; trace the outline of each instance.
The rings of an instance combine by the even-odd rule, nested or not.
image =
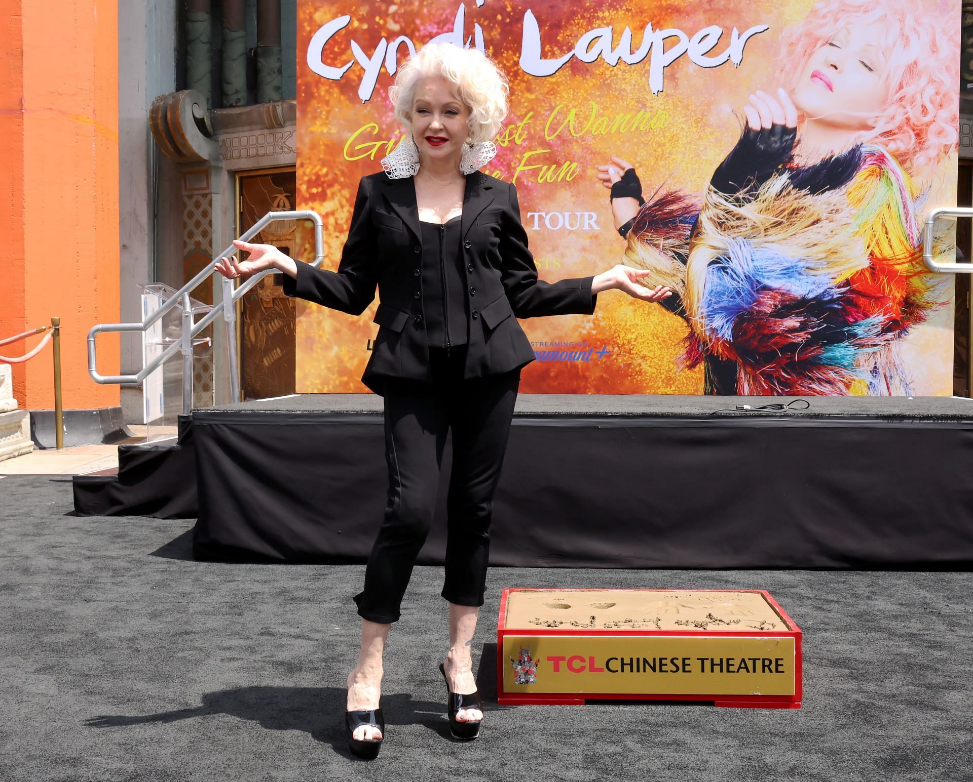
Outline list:
[[[461,5],[456,0],[397,4],[302,0],[299,4],[298,208],[312,209],[324,220],[324,268],[338,267],[358,180],[379,171],[380,158],[401,138],[387,97],[394,77],[382,66],[374,90],[363,100],[359,89],[366,75],[355,60],[352,42],[369,57],[382,39],[391,44],[400,35],[419,47],[454,29]],[[479,25],[487,53],[511,85],[511,113],[497,139],[499,152],[484,170],[516,183],[541,279],[596,274],[621,262],[625,242],[612,225],[608,190],[595,178],[595,166],[609,162],[611,155],[631,161],[646,197],[663,183],[689,193],[703,191],[739,138],[738,117],[747,96],[755,89],[770,91],[775,86],[777,37],[785,26],[804,17],[811,5],[807,0],[786,4],[610,0],[592,5],[485,0],[481,7],[476,2],[463,5],[463,39],[472,40]],[[540,27],[543,56],[552,59],[571,51],[584,33],[603,26],[613,27],[615,46],[625,27],[630,27],[631,48],[637,49],[650,22],[653,29],[675,27],[690,37],[703,27],[718,25],[724,37],[710,54],[726,49],[735,27],[742,32],[767,24],[770,30],[749,39],[739,67],[728,62],[701,68],[687,56],[680,57],[665,69],[664,90],[653,95],[648,58],[634,65],[620,60],[616,67],[601,58],[592,63],[573,58],[553,76],[525,74],[519,58],[528,9]],[[354,62],[339,81],[333,81],[311,71],[307,51],[322,25],[343,15],[349,15],[349,21],[330,38],[320,61],[334,68]],[[398,55],[399,62],[406,60],[405,45],[398,48]],[[574,132],[568,126],[554,133],[572,110]],[[636,128],[599,132],[617,116],[634,117],[639,112],[644,121]],[[549,168],[518,171],[524,155],[526,165]],[[940,181],[927,201],[930,206],[955,204],[956,161],[953,154],[940,166]],[[573,179],[543,181],[557,180],[561,166],[570,163],[576,165]],[[543,220],[534,230],[534,219],[528,218],[532,212],[593,212],[598,230],[548,230]],[[312,257],[306,251],[303,259]],[[944,297],[950,305],[916,327],[903,345],[917,394],[952,393],[952,278],[946,282],[949,289]],[[369,357],[369,340],[378,331],[372,323],[375,307],[354,318],[299,302],[299,392],[367,391],[359,378]],[[549,347],[543,343],[584,343],[600,355],[588,362],[534,361],[523,370],[523,392],[703,391],[702,368],[677,369],[685,323],[658,305],[607,291],[599,295],[593,317],[530,319],[522,325],[532,342],[541,343],[538,350]]]

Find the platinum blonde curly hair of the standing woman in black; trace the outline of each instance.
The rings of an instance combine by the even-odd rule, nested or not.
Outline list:
[[[493,60],[477,49],[455,44],[426,44],[401,67],[388,97],[395,106],[395,119],[406,131],[412,129],[415,87],[420,79],[443,77],[452,92],[470,109],[471,141],[491,141],[507,117],[510,85]]]

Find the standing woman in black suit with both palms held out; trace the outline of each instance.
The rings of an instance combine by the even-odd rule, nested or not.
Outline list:
[[[430,44],[389,89],[409,131],[363,177],[337,272],[295,263],[268,245],[237,242],[228,277],[274,267],[284,290],[354,315],[378,287],[379,325],[362,378],[384,396],[388,493],[384,521],[355,595],[362,617],[358,664],[347,678],[348,747],[374,758],[384,738],[378,706],[382,650],[436,505],[443,446],[452,436],[446,574],[450,648],[440,671],[450,731],[476,738],[483,707],[471,646],[484,603],[489,524],[521,368],[534,353],[517,318],[592,314],[601,290],[662,301],[647,271],[618,265],[594,277],[537,279],[517,189],[478,169],[507,115],[508,85],[480,51]]]

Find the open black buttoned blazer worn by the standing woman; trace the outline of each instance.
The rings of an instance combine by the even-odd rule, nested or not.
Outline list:
[[[460,226],[470,318],[464,378],[508,372],[534,360],[517,318],[595,312],[592,277],[537,279],[513,185],[479,171],[467,176]],[[413,178],[393,180],[381,171],[358,185],[338,271],[298,263],[296,280],[284,276],[287,295],[351,315],[372,303],[378,286],[378,336],[362,375],[377,393],[386,377],[432,380],[421,237]]]

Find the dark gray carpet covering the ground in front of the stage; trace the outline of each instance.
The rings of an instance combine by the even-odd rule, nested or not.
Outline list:
[[[378,761],[349,758],[361,566],[190,558],[187,521],[76,518],[70,479],[0,479],[0,779],[970,780],[966,573],[490,571],[483,736],[450,739],[438,568],[392,629]],[[799,710],[499,707],[504,586],[769,589],[805,632]]]

